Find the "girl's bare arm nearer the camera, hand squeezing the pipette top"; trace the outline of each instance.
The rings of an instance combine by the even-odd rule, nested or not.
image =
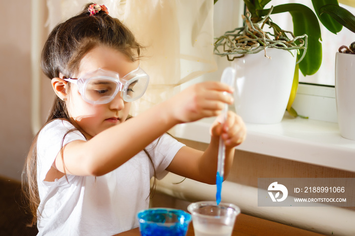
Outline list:
[[[174,97],[115,127],[102,131],[89,141],[77,140],[59,152],[55,168],[73,175],[107,174],[159,138],[173,126],[203,117],[219,115],[225,103],[233,101],[229,86],[219,82],[193,85]],[[65,164],[65,165],[64,165]]]

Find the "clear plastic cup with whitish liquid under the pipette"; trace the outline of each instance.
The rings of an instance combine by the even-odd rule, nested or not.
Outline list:
[[[197,202],[188,206],[192,214],[192,224],[195,236],[230,236],[236,216],[240,213],[239,207],[216,202]]]

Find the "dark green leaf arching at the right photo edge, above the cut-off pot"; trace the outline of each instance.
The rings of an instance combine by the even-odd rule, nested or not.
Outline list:
[[[326,5],[319,10],[321,16],[329,14],[341,25],[355,33],[355,16],[345,8],[337,5]]]

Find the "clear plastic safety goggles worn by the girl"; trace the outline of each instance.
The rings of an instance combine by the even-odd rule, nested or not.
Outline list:
[[[118,92],[126,102],[134,101],[146,92],[149,75],[139,66],[122,78],[113,71],[98,68],[80,78],[64,78],[64,81],[78,85],[79,93],[86,102],[104,104],[111,102]]]

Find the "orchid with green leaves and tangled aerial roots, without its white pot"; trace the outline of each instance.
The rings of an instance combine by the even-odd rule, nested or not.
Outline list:
[[[255,48],[250,47],[254,45],[253,42],[257,42],[257,47],[266,48],[273,46],[283,46],[286,45],[285,42],[291,42],[290,46],[282,47],[281,49],[290,50],[297,49],[302,51],[297,55],[297,64],[294,73],[294,81],[292,85],[292,91],[287,106],[287,110],[293,116],[298,116],[297,112],[292,108],[292,103],[295,99],[297,88],[298,88],[298,73],[302,72],[303,75],[314,74],[322,63],[322,40],[321,28],[319,27],[319,21],[331,32],[337,33],[342,29],[342,24],[339,23],[333,16],[327,12],[329,7],[337,6],[339,7],[337,0],[311,0],[314,12],[303,4],[282,4],[278,6],[273,6],[270,9],[265,9],[265,6],[271,2],[271,0],[243,0],[247,8],[246,16],[243,19],[244,26],[236,28],[231,31],[227,31],[224,35],[216,38],[215,42],[215,54],[220,56],[227,56],[230,59],[232,54],[238,54],[243,56],[245,54],[257,53],[260,50],[255,50]],[[214,1],[215,4],[218,0]],[[328,6],[327,8],[323,8]],[[321,12],[321,8],[323,11]],[[277,23],[271,20],[273,14],[289,12],[293,19],[293,32],[284,31],[280,29]],[[322,13],[322,14],[321,14]],[[327,13],[327,14],[325,14]],[[258,25],[258,27],[256,27]],[[263,30],[263,27],[268,25],[272,28],[274,33],[271,41],[266,40],[266,35],[268,34]],[[256,29],[258,32],[251,32],[252,26],[253,30]],[[255,30],[254,30],[255,31]],[[238,34],[238,35],[236,35]],[[291,34],[291,38],[289,35]],[[233,36],[231,40],[230,36]],[[257,38],[255,37],[257,36]],[[252,43],[243,43],[241,45],[235,44],[239,40],[244,41],[245,37],[252,38]],[[223,48],[223,49],[222,49]],[[237,56],[237,57],[239,57]],[[266,56],[266,55],[265,55]],[[237,57],[233,57],[237,58]],[[232,59],[232,60],[233,60]]]

